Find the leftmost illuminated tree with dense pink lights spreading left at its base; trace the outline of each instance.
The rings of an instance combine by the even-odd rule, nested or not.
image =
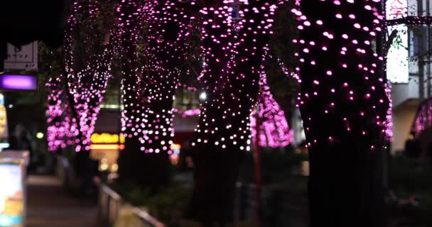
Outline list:
[[[114,52],[109,43],[111,24],[104,12],[107,6],[98,1],[75,2],[68,18],[63,48],[65,72],[53,75],[47,84],[52,91],[47,112],[49,150],[66,145],[75,145],[76,151],[90,150],[90,136],[111,76]]]

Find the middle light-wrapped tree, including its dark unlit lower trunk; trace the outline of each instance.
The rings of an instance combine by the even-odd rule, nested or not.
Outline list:
[[[198,79],[206,99],[193,143],[191,215],[204,223],[224,223],[229,216],[239,163],[251,146],[249,116],[278,3],[205,1],[200,9],[205,66]]]

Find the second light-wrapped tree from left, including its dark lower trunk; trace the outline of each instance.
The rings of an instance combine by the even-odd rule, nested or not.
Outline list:
[[[173,143],[171,109],[189,19],[175,1],[124,1],[118,11],[123,43],[122,131],[128,138],[119,160],[124,163],[121,177],[166,183]],[[156,174],[141,174],[151,171]]]

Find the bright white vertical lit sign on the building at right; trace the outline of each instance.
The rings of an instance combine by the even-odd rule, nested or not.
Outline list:
[[[402,18],[408,14],[407,0],[387,0],[386,19]],[[392,83],[408,83],[408,27],[406,25],[389,26],[389,34],[395,29],[398,31],[392,46],[387,53],[387,79]]]

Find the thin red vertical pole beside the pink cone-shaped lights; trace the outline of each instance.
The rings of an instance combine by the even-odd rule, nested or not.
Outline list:
[[[257,218],[257,227],[261,227],[261,148],[259,147],[259,105],[257,104],[257,113],[255,114],[255,212]]]

